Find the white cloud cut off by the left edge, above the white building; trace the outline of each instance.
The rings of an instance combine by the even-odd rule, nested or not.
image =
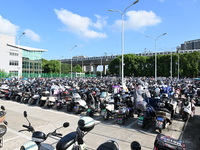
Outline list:
[[[6,35],[11,35],[11,36],[16,36],[18,29],[19,29],[18,26],[12,24],[9,20],[4,19],[0,15],[0,33],[6,34]]]

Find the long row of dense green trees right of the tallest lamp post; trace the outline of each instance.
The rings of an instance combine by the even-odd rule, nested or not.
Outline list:
[[[178,76],[178,56],[180,77],[197,77],[200,74],[200,52],[172,54],[172,75]],[[125,76],[155,75],[155,56],[124,55]],[[112,60],[108,66],[111,74],[121,76],[121,56]],[[157,55],[157,75],[169,77],[171,70],[171,54]]]

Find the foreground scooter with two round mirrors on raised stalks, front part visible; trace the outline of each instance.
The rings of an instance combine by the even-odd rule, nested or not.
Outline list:
[[[23,144],[21,146],[20,150],[40,150],[40,149],[43,148],[42,142],[44,142],[49,136],[55,136],[55,137],[62,138],[62,134],[57,133],[57,130],[62,128],[62,127],[66,128],[66,127],[69,126],[69,123],[65,122],[62,127],[55,129],[53,132],[49,132],[48,134],[45,134],[42,131],[35,131],[34,127],[31,125],[30,121],[27,118],[27,112],[26,111],[24,111],[24,117],[28,121],[29,125],[23,125],[23,127],[26,128],[26,129],[19,130],[19,132],[22,132],[22,131],[31,132],[32,133],[32,139],[31,139],[31,141],[28,141],[25,144]],[[52,147],[52,146],[50,146],[50,147]]]

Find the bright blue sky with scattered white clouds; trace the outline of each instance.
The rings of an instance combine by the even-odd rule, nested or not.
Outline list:
[[[135,0],[1,0],[0,34],[45,49],[43,58],[121,54],[121,14]],[[124,15],[124,52],[174,50],[200,39],[200,0],[140,0]],[[74,47],[77,45],[77,47]],[[74,47],[74,48],[73,48]],[[73,50],[71,51],[71,49]]]

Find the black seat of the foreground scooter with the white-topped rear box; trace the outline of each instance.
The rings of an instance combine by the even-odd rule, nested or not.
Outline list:
[[[76,132],[71,132],[64,137],[62,137],[58,143],[56,144],[56,149],[57,150],[66,150],[69,148],[75,141],[76,138]]]

